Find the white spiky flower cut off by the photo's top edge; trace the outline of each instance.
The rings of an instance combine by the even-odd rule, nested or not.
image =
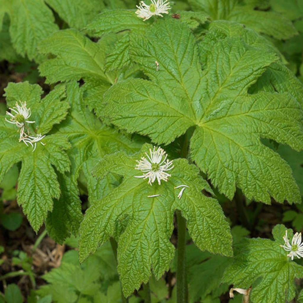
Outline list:
[[[140,2],[140,5],[136,5],[136,14],[139,18],[143,18],[143,21],[149,19],[151,16],[161,14],[168,14],[168,10],[171,9],[168,0],[151,0],[151,4],[147,5],[144,1]]]

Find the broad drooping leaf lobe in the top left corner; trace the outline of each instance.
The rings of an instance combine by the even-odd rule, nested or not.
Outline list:
[[[43,0],[12,0],[9,28],[16,51],[37,59],[37,44],[58,30],[52,11]]]

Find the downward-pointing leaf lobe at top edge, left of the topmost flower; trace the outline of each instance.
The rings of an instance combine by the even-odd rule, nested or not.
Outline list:
[[[46,0],[72,28],[82,29],[98,15],[105,5],[100,0]]]

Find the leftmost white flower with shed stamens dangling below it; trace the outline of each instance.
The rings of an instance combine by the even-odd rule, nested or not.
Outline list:
[[[19,102],[20,105],[18,105],[16,102],[16,105],[13,108],[9,108],[11,112],[6,112],[6,115],[9,116],[9,120],[5,118],[5,121],[11,124],[15,124],[18,128],[20,128],[19,142],[24,142],[26,146],[28,146],[28,144],[31,145],[33,151],[35,151],[37,142],[40,141],[42,145],[45,145],[41,142],[45,135],[42,136],[41,134],[38,134],[36,136],[30,136],[25,132],[25,123],[35,123],[35,121],[28,120],[28,118],[31,116],[31,109],[26,107],[26,102]],[[15,115],[13,113],[15,113]]]

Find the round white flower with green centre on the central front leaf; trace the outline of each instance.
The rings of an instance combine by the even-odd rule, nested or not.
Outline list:
[[[167,154],[161,147],[154,146],[153,150],[149,149],[148,153],[145,153],[146,157],[142,157],[141,160],[137,160],[138,164],[135,169],[143,172],[142,176],[134,176],[135,178],[148,178],[148,184],[152,184],[156,178],[158,184],[161,185],[161,180],[167,181],[171,175],[165,171],[171,170],[174,166],[172,161],[167,160]]]

